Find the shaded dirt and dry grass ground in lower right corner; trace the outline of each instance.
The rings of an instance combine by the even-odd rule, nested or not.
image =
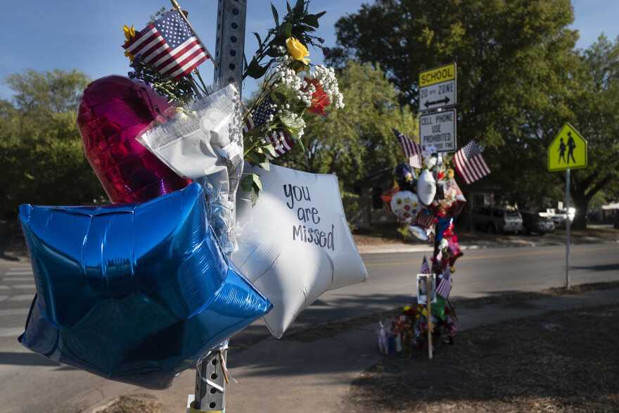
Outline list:
[[[456,336],[433,360],[386,356],[352,383],[353,412],[618,412],[619,305]]]

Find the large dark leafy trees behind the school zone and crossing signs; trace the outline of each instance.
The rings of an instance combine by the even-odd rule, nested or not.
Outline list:
[[[592,160],[573,173],[575,227],[584,227],[592,196],[617,178],[617,45],[575,51],[571,23],[569,0],[377,0],[338,20],[340,49],[328,57],[381,65],[413,108],[419,72],[455,61],[459,146],[490,146],[486,182],[519,203],[560,190],[560,175],[545,170],[546,148],[572,122]]]

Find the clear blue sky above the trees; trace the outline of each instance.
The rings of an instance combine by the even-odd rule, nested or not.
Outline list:
[[[312,0],[312,11],[326,11],[321,18],[317,35],[324,37],[325,46],[336,42],[333,24],[346,13],[357,11],[367,0]],[[190,12],[189,18],[196,31],[212,53],[215,49],[215,25],[217,23],[216,0],[180,0]],[[283,14],[285,0],[273,3]],[[105,75],[126,75],[129,62],[120,48],[124,41],[122,25],[134,24],[136,29],[146,25],[148,16],[161,6],[169,6],[167,0],[0,0],[5,13],[0,25],[0,98],[8,99],[11,90],[4,78],[11,73],[27,68],[51,70],[77,68],[96,79]],[[589,46],[604,32],[614,39],[619,35],[619,1],[573,0],[575,23],[580,31],[577,46]],[[272,14],[267,0],[248,0],[248,37],[245,51],[251,56],[255,51],[255,38],[251,32],[260,34],[272,26]],[[312,51],[310,51],[312,53]],[[312,53],[312,62],[319,63],[321,53]],[[205,79],[212,79],[212,65],[200,67]],[[245,94],[254,89],[245,84]]]

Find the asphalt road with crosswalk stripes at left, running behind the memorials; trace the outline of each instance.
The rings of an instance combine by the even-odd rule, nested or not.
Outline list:
[[[293,329],[411,302],[414,275],[423,253],[371,254],[363,258],[369,281],[324,294],[301,314]],[[473,298],[563,286],[564,262],[565,248],[554,246],[467,250],[457,262],[452,296]],[[570,277],[573,284],[618,281],[619,244],[573,246]],[[0,411],[72,413],[75,410],[65,407],[67,400],[91,388],[106,391],[109,382],[49,362],[18,343],[32,296],[30,266],[0,260]],[[258,323],[232,340],[248,341],[250,336],[265,334],[267,330]]]

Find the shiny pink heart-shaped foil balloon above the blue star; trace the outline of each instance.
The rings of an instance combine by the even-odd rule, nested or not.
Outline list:
[[[191,182],[136,140],[167,108],[151,87],[127,77],[102,77],[84,90],[77,125],[86,158],[113,203],[148,201]]]

